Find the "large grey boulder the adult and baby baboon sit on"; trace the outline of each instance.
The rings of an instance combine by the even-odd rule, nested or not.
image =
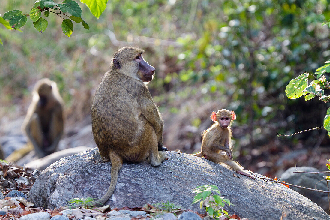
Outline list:
[[[200,185],[213,184],[235,205],[225,209],[240,217],[330,220],[314,202],[280,183],[252,180],[188,154],[167,152],[167,155],[168,160],[159,167],[147,162],[124,163],[114,195],[106,204],[112,208],[142,207],[146,203],[169,201],[182,209],[204,213],[199,204],[191,204],[195,195],[191,191]],[[110,185],[110,169],[111,163],[102,162],[97,148],[63,158],[39,175],[28,199],[36,206],[55,208],[76,197],[100,198]]]

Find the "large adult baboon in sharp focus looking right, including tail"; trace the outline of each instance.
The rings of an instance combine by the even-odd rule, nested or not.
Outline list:
[[[113,194],[123,162],[141,162],[149,156],[152,166],[166,158],[163,121],[144,82],[153,78],[155,68],[142,57],[143,50],[123,47],[114,54],[91,107],[94,140],[104,161],[111,161],[111,183],[98,201]]]

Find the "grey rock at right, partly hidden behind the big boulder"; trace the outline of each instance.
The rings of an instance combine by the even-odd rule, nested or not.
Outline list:
[[[298,186],[303,186],[307,188],[312,188],[318,190],[328,190],[327,182],[325,181],[324,176],[326,173],[293,173],[294,171],[308,171],[308,172],[318,172],[319,170],[310,167],[310,166],[300,166],[300,167],[290,167],[287,169],[282,175],[281,180],[287,183],[291,183]],[[323,180],[323,181],[322,181]],[[324,211],[329,214],[329,201],[327,193],[319,193],[311,190],[300,189],[297,187],[291,187],[294,191],[300,193],[301,195],[307,197],[312,200],[316,204],[318,204]]]

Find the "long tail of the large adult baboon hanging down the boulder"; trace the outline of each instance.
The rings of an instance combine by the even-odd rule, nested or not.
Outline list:
[[[102,204],[107,202],[110,199],[110,197],[112,196],[112,194],[114,193],[116,185],[117,185],[118,172],[123,165],[121,158],[116,153],[110,153],[110,158],[111,158],[111,164],[112,164],[110,186],[108,188],[108,191],[105,193],[105,195],[97,201]]]

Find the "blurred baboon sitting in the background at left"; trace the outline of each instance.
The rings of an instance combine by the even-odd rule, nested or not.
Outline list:
[[[41,79],[33,90],[22,129],[26,132],[39,158],[57,151],[63,134],[63,100],[56,83]]]

